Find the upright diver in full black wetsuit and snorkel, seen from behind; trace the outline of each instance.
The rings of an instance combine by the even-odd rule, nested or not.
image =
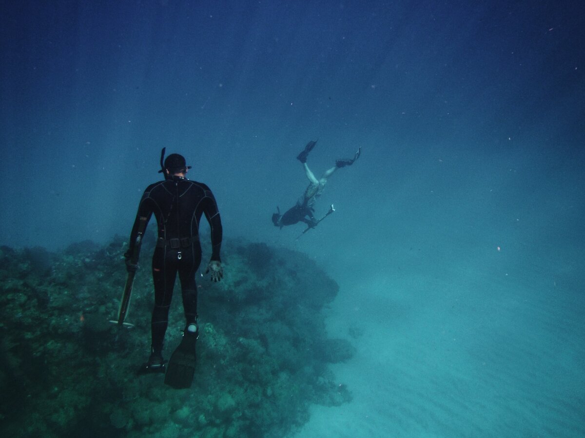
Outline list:
[[[206,273],[211,272],[212,281],[219,281],[223,277],[219,257],[222,225],[214,195],[209,187],[185,178],[187,170],[191,169],[191,166],[186,165],[185,158],[179,154],[171,154],[164,160],[164,164],[163,158],[164,148],[161,152],[159,173],[163,173],[165,180],[151,184],[144,190],[130,234],[130,245],[125,253],[126,268],[128,272],[137,269],[140,237],[154,213],[159,238],[152,258],[154,282],[152,345],[150,358],[140,371],[160,373],[166,371],[166,384],[175,388],[188,388],[193,378],[195,342],[198,338],[195,273],[201,263],[199,221],[201,216],[205,215],[211,227],[212,254]],[[177,272],[181,282],[187,325],[180,345],[166,364],[162,356],[163,341]]]

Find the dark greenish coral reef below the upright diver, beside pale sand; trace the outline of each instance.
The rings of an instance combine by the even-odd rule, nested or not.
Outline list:
[[[130,329],[108,321],[125,283],[122,238],[61,253],[0,247],[2,436],[284,437],[310,404],[349,401],[328,363],[354,350],[328,339],[322,314],[337,284],[301,253],[244,240],[225,242],[221,283],[198,277],[192,388],[136,376],[150,346],[153,242],[143,245]],[[177,282],[167,357],[183,328]]]

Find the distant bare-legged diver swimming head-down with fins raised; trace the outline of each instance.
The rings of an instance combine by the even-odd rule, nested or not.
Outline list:
[[[335,161],[335,166],[331,169],[325,171],[325,173],[321,176],[320,179],[316,179],[311,169],[307,165],[307,157],[309,152],[311,152],[312,148],[315,147],[316,141],[309,141],[305,146],[305,149],[298,154],[298,161],[302,163],[303,168],[305,169],[305,175],[309,180],[309,186],[305,190],[305,193],[301,196],[301,198],[297,201],[297,203],[289,208],[283,215],[280,214],[280,208],[277,207],[277,213],[272,215],[272,223],[275,227],[283,228],[285,225],[294,225],[299,222],[304,222],[307,224],[309,228],[313,228],[316,226],[318,221],[315,219],[313,213],[316,199],[321,196],[323,189],[325,188],[325,184],[327,183],[327,179],[329,176],[333,174],[337,169],[351,166],[353,162],[359,158],[362,148],[358,148],[356,155],[351,159],[338,159]]]

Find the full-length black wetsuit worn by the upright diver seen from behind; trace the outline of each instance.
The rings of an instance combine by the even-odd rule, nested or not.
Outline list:
[[[183,308],[187,325],[197,324],[197,286],[195,273],[201,263],[199,221],[205,218],[211,227],[211,260],[221,261],[219,251],[222,225],[214,195],[205,184],[179,176],[154,183],[144,190],[136,221],[130,234],[130,248],[139,228],[140,217],[150,220],[154,213],[159,239],[152,258],[154,280],[154,310],[152,312],[152,349],[163,349],[164,333],[168,325],[168,309],[173,297],[177,272],[183,293]]]

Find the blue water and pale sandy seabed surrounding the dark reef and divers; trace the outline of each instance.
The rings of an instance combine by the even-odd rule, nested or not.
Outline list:
[[[585,435],[579,2],[18,2],[1,35],[0,244],[129,234],[160,149],[224,232],[308,253],[353,393],[298,437]],[[355,165],[301,225],[295,159]],[[353,333],[353,336],[350,336]],[[357,333],[357,335],[356,335]]]

